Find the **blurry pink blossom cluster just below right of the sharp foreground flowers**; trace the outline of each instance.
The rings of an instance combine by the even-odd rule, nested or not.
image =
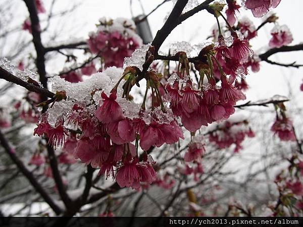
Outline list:
[[[215,143],[219,149],[228,148],[234,144],[234,152],[239,152],[246,136],[255,137],[255,133],[247,127],[246,121],[235,123],[225,121],[217,130],[211,132],[209,140]]]

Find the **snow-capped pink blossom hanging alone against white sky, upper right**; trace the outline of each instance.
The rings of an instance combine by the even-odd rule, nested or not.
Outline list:
[[[280,48],[292,42],[292,34],[286,25],[276,25],[271,31],[272,38],[269,41],[270,47]]]

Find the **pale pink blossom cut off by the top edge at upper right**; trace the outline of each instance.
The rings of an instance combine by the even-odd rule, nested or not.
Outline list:
[[[242,0],[242,2],[255,17],[263,17],[271,8],[276,8],[281,0]]]

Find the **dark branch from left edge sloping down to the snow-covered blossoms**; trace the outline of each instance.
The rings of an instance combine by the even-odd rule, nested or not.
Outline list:
[[[45,97],[53,98],[55,96],[53,92],[48,91],[45,88],[38,87],[34,84],[27,83],[1,67],[0,67],[0,78],[12,82],[14,84],[18,84],[29,91],[39,93],[41,95],[44,95]]]

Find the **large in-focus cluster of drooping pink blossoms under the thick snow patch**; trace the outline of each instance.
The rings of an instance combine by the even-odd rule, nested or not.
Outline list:
[[[47,122],[47,115],[42,116],[34,134],[46,136],[55,148],[64,144],[64,151],[83,163],[99,167],[99,174],[115,177],[121,187],[138,189],[140,182],[151,184],[156,179],[156,172],[152,167],[154,161],[147,158],[146,151],[151,146],[177,142],[183,138],[181,128],[175,120],[161,124],[156,116],[148,125],[141,118],[128,119],[116,101],[116,92],[109,96],[102,92],[101,96],[102,101],[93,115],[83,106],[73,106],[67,124],[79,127],[80,137],[70,136],[65,141],[68,130],[63,119],[52,127]],[[135,140],[136,146],[131,143]],[[145,151],[142,161],[139,161],[138,145]]]

